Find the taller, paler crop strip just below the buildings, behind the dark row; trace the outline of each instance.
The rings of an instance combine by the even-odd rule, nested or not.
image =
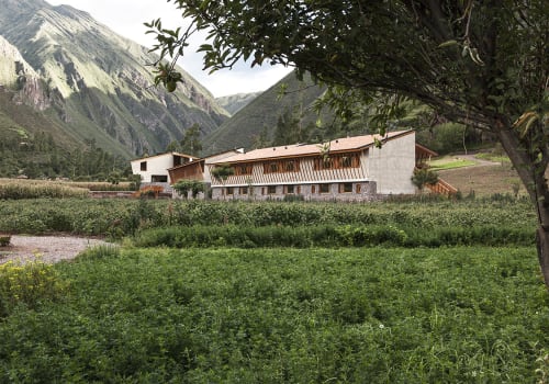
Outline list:
[[[536,216],[526,200],[344,203],[200,202],[171,200],[37,199],[3,201],[0,231],[121,238],[167,226],[302,227],[393,226],[407,233],[434,228],[496,227],[534,236]]]

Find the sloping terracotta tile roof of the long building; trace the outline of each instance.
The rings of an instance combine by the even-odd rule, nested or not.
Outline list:
[[[376,138],[379,140],[388,140],[395,138],[397,136],[406,135],[413,131],[396,131],[389,132],[385,136],[380,135],[365,135],[365,136],[354,136],[336,138],[329,142],[329,151],[348,151],[348,150],[359,150],[372,146],[376,143]],[[264,160],[281,157],[296,157],[296,156],[314,156],[321,154],[323,145],[322,144],[293,144],[279,147],[268,147],[250,150],[246,154],[239,154],[235,156],[227,157],[223,160],[215,161],[212,163],[226,163],[226,162],[242,162],[250,160]]]

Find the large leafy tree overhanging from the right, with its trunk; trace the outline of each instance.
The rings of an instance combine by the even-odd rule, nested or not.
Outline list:
[[[323,102],[347,118],[376,106],[380,133],[403,99],[493,134],[536,207],[538,256],[549,287],[549,1],[547,0],[171,0],[191,21],[156,33],[173,61],[194,32],[204,68],[240,59],[295,66],[328,86]],[[322,104],[321,103],[321,104]]]

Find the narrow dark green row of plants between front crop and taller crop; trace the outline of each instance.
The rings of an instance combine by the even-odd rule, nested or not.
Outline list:
[[[394,225],[312,226],[179,226],[141,230],[137,247],[440,247],[440,246],[531,246],[534,233],[525,228],[496,226],[399,228]]]

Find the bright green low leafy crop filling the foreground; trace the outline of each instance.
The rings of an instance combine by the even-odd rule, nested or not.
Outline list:
[[[0,321],[2,382],[533,383],[549,346],[531,247],[103,248],[55,271],[63,297]]]

